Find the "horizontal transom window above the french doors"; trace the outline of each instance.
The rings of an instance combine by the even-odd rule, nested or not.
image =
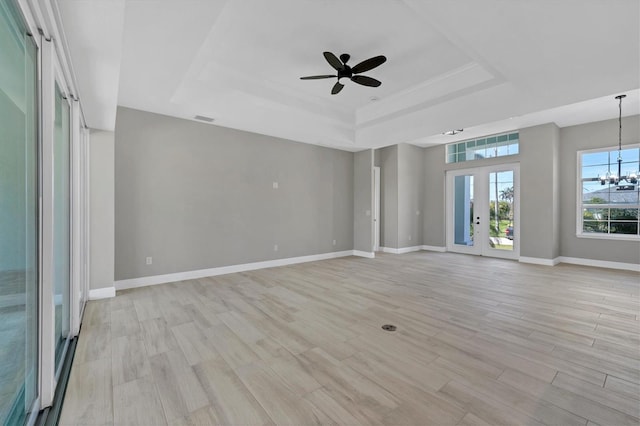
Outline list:
[[[519,145],[520,136],[517,132],[451,143],[447,145],[447,163],[514,155],[519,152]]]

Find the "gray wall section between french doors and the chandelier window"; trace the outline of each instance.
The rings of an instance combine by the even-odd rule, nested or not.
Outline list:
[[[559,139],[560,129],[553,123],[520,130],[522,257],[555,259],[560,255]]]

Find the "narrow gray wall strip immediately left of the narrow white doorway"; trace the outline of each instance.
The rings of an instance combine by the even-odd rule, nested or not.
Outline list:
[[[353,156],[353,249],[373,252],[373,150]]]

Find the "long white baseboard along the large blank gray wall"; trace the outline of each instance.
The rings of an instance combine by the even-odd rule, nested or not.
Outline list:
[[[233,274],[235,272],[254,271],[256,269],[273,268],[276,266],[294,265],[296,263],[314,262],[317,260],[335,259],[336,257],[353,256],[354,250],[337,251],[331,253],[313,254],[310,256],[290,257],[286,259],[266,260],[263,262],[243,263],[239,265],[220,266],[217,268],[199,269],[196,271],[176,272],[173,274],[153,275],[149,277],[118,280],[115,288],[145,287],[148,285],[165,284],[175,281],[193,280],[197,278],[214,277],[216,275]]]

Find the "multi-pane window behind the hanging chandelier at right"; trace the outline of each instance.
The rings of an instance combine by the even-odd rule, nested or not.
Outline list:
[[[580,237],[640,239],[640,145],[578,152]]]

